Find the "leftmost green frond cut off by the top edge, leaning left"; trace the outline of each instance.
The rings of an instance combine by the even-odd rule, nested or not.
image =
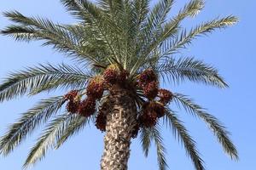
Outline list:
[[[119,26],[116,26],[112,20],[108,19],[108,15],[104,14],[101,8],[94,3],[85,0],[61,0],[68,11],[83,21],[84,26],[89,26],[91,30],[95,30],[96,37],[102,37],[111,52],[108,59],[119,64],[119,55],[116,47],[119,47],[119,41],[114,40],[114,34],[118,34]]]

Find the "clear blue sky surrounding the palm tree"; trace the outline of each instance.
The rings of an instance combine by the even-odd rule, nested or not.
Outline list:
[[[171,14],[187,1],[176,1]],[[174,92],[188,94],[195,101],[217,116],[232,133],[231,138],[237,146],[240,161],[230,161],[222,148],[207,129],[206,125],[193,117],[179,112],[180,118],[189,128],[197,141],[201,156],[208,170],[253,170],[256,167],[255,137],[255,94],[256,94],[256,57],[253,53],[256,39],[255,0],[207,0],[206,8],[196,19],[186,20],[185,26],[195,26],[200,21],[207,21],[216,16],[234,14],[240,18],[236,26],[215,31],[207,37],[197,38],[192,46],[184,51],[184,56],[195,56],[218,67],[218,70],[230,84],[228,89],[206,87],[202,84],[185,82],[180,86],[166,85]],[[1,0],[0,12],[16,9],[26,15],[40,15],[60,23],[72,23],[73,19],[65,12],[58,0]],[[0,29],[8,26],[9,21],[0,15]],[[9,37],[0,37],[0,79],[9,71],[22,69],[24,66],[38,63],[69,62],[62,54],[49,47],[41,47],[40,42],[15,42]],[[15,122],[20,113],[26,111],[41,98],[47,98],[61,92],[41,94],[37,97],[15,99],[0,104],[0,134],[7,126]],[[38,131],[39,132],[39,131]],[[0,169],[18,170],[26,159],[28,150],[38,138],[38,132],[20,145],[10,156],[0,157]],[[194,169],[181,144],[173,139],[172,133],[164,130],[167,161],[172,170]],[[82,133],[70,139],[60,150],[50,150],[46,158],[32,169],[45,170],[96,170],[102,156],[103,133],[91,125]],[[157,169],[155,148],[152,147],[148,158],[144,158],[138,139],[131,145],[129,169]]]

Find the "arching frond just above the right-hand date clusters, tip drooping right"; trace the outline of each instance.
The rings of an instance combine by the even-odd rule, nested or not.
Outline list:
[[[218,88],[229,87],[224,82],[224,78],[218,74],[217,69],[194,58],[168,58],[161,62],[160,65],[157,65],[156,71],[163,80],[167,78],[168,82],[179,83],[189,80],[203,82]]]

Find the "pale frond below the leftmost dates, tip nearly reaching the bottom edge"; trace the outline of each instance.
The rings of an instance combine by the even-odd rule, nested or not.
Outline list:
[[[25,169],[44,158],[47,150],[55,145],[56,139],[60,138],[63,131],[65,131],[74,117],[76,116],[72,114],[64,114],[57,116],[49,123],[39,137],[37,144],[32,147],[32,150],[27,156],[23,166]]]

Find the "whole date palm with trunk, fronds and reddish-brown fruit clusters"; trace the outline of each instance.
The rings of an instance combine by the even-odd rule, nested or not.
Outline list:
[[[173,0],[160,0],[149,8],[149,0],[61,0],[78,22],[55,24],[17,11],[5,16],[15,24],[3,35],[17,41],[41,40],[73,59],[74,65],[38,65],[9,74],[0,85],[0,102],[56,88],[67,94],[43,99],[26,111],[3,135],[0,152],[8,156],[38,126],[46,125],[27,156],[24,167],[42,160],[49,148],[56,149],[88,123],[105,132],[102,170],[125,170],[131,139],[139,135],[143,152],[156,144],[160,170],[167,168],[166,148],[160,134],[162,124],[170,127],[182,142],[196,170],[205,169],[192,139],[172,111],[170,103],[201,118],[210,127],[231,159],[238,159],[229,133],[215,116],[184,94],[160,88],[160,82],[203,82],[217,88],[228,85],[211,65],[194,58],[180,57],[195,37],[236,23],[236,17],[202,23],[189,31],[182,21],[195,17],[203,0],[191,0],[177,15],[168,17]],[[59,114],[61,107],[66,111]],[[63,111],[63,110],[61,110]],[[160,121],[160,119],[164,121]]]

